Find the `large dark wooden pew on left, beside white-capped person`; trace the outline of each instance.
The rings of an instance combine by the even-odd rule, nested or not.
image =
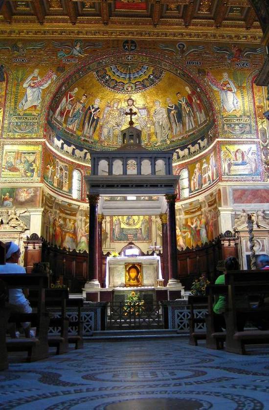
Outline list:
[[[9,322],[31,322],[36,327],[35,338],[7,338],[7,351],[27,351],[27,361],[45,359],[48,357],[47,332],[49,318],[45,313],[45,288],[48,286],[48,277],[36,274],[2,274],[0,280],[11,288],[28,288],[38,293],[37,309],[35,313],[10,312]],[[1,329],[1,332],[5,330]]]

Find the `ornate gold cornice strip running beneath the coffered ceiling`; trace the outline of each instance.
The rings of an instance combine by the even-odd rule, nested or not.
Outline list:
[[[75,27],[70,23],[49,22],[43,26],[32,23],[13,23],[8,25],[0,23],[0,37],[2,39],[20,38],[29,39],[29,37],[38,39],[46,38],[52,39],[58,38],[85,38],[85,39],[123,39],[134,38],[156,41],[157,39],[166,40],[181,40],[181,41],[213,41],[213,42],[233,42],[236,43],[260,43],[263,38],[261,29],[246,30],[243,27],[225,27],[215,28],[210,27],[188,27],[186,29],[183,24],[182,27],[173,25],[163,25],[151,27],[149,25],[128,26],[128,21],[123,21],[122,24],[126,24],[126,27],[119,28],[116,24],[110,24],[105,26],[100,23],[91,24],[89,28],[89,22],[87,25],[83,23],[77,23]],[[57,27],[58,26],[58,27]]]

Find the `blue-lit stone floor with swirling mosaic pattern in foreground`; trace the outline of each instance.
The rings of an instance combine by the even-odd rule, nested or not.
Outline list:
[[[86,342],[35,363],[11,356],[0,372],[0,409],[269,409],[269,347],[241,356],[204,346],[130,339]]]

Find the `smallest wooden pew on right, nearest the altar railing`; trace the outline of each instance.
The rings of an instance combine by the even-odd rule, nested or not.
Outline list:
[[[206,296],[189,296],[188,305],[190,306],[190,319],[189,319],[189,344],[197,346],[198,340],[204,340],[206,338],[206,331],[197,330],[197,326],[205,323],[205,317],[195,317],[195,309],[207,308]]]

